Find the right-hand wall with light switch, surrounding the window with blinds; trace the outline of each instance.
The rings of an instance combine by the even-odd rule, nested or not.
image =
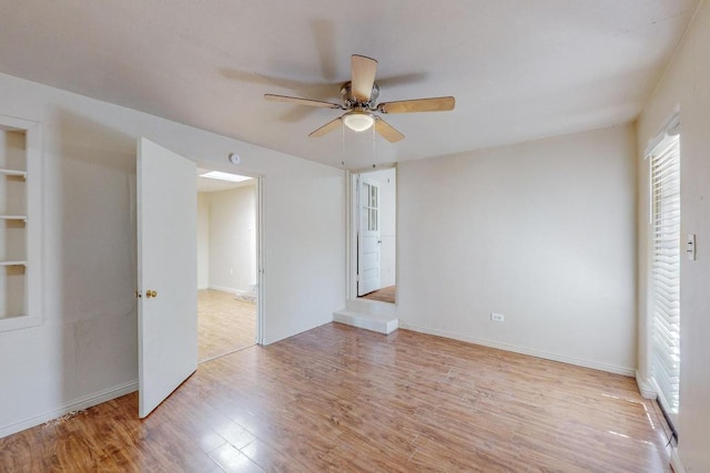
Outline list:
[[[648,163],[642,152],[680,110],[681,237],[697,235],[694,261],[680,264],[680,409],[678,455],[688,472],[709,472],[710,454],[710,4],[701,4],[681,48],[638,122],[640,270],[648,266]],[[646,277],[639,289],[640,332],[646,335]],[[647,374],[646,337],[640,349]]]

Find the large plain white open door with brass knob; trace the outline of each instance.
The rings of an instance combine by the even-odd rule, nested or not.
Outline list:
[[[195,163],[138,143],[139,415],[197,369]]]

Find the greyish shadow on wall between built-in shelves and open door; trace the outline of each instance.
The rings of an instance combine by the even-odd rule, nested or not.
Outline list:
[[[72,401],[138,379],[136,140],[61,110],[52,123],[45,311],[61,326],[61,391]]]

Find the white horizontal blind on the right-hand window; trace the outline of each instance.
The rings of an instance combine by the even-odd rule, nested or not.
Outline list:
[[[672,419],[680,389],[680,136],[667,134],[650,160],[650,373]]]

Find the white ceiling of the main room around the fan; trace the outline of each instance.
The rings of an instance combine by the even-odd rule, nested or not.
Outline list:
[[[698,0],[22,0],[0,4],[0,71],[327,164],[440,156],[633,120]],[[454,95],[453,112],[307,134],[341,111],[351,54],[381,102]],[[239,150],[236,150],[239,152]]]

